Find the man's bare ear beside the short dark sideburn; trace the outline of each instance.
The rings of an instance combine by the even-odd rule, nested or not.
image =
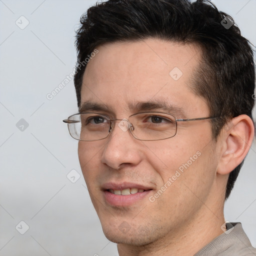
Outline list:
[[[248,115],[232,118],[219,136],[221,150],[217,173],[228,174],[239,165],[249,151],[253,137],[254,125]]]

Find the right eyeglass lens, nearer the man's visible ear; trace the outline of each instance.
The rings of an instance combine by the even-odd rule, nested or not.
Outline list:
[[[145,112],[131,115],[130,129],[133,136],[140,140],[158,140],[173,137],[176,134],[176,119],[171,114]]]

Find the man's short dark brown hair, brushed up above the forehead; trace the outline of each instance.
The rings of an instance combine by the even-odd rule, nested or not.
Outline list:
[[[225,19],[224,19],[225,18]],[[224,19],[224,20],[223,20]],[[255,69],[250,43],[232,24],[232,18],[207,0],[108,0],[96,3],[80,18],[76,31],[77,65],[74,75],[77,104],[80,106],[85,65],[79,65],[99,45],[116,41],[158,38],[190,43],[202,52],[192,90],[208,104],[217,136],[232,117],[247,114],[252,119]],[[230,23],[231,22],[231,23]],[[228,198],[243,161],[229,174]]]

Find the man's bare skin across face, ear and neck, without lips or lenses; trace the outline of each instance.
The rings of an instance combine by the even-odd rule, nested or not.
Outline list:
[[[81,102],[107,108],[88,110],[122,119],[138,111],[129,107],[131,103],[166,101],[182,108],[182,116],[173,110],[176,118],[209,116],[204,99],[189,89],[200,61],[197,47],[150,38],[97,49],[85,69]],[[183,73],[176,81],[169,75],[174,67]],[[193,255],[223,233],[225,185],[228,173],[248,151],[253,137],[250,119],[235,117],[217,141],[209,120],[178,122],[174,137],[156,141],[137,140],[117,124],[105,139],[79,141],[78,156],[103,232],[118,243],[119,255]],[[200,155],[192,164],[150,201],[149,196],[196,152]],[[130,206],[112,206],[104,199],[102,185],[122,181],[152,190]]]

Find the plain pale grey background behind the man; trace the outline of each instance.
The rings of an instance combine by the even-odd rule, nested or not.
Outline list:
[[[214,0],[256,43],[256,0]],[[94,0],[0,0],[0,255],[117,255],[101,231],[62,119],[75,113],[73,82],[46,98],[72,72],[74,30]],[[29,24],[20,29],[23,15]],[[25,24],[23,19],[22,24]],[[255,112],[254,112],[255,117]],[[24,118],[29,126],[20,131]],[[256,246],[256,146],[253,143],[225,218],[240,221]],[[72,183],[67,173],[81,177]],[[29,229],[22,235],[16,229]]]

